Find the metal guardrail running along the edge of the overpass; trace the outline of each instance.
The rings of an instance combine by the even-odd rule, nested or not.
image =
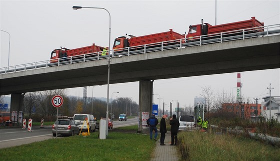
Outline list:
[[[253,32],[256,30],[262,30],[262,32]],[[151,43],[133,47],[126,47],[122,49],[110,50],[112,56],[122,55],[129,56],[134,54],[143,54],[148,52],[163,51],[170,49],[180,49],[190,46],[205,45],[211,43],[222,43],[232,40],[241,40],[254,37],[271,36],[280,34],[280,24],[267,25],[261,27],[253,27],[247,29],[240,29],[235,31],[221,32],[217,34],[209,34],[191,38],[183,38],[176,40],[163,41],[158,43]],[[57,59],[56,63],[51,63],[50,60],[26,63],[21,65],[2,67],[0,68],[0,74],[7,74],[13,72],[20,72],[26,70],[34,70],[38,68],[48,68],[52,66],[59,66],[65,64],[73,64],[80,62],[87,62],[93,60],[105,59],[108,55],[100,56],[101,52],[88,53],[84,55],[76,55],[71,57],[63,57]]]

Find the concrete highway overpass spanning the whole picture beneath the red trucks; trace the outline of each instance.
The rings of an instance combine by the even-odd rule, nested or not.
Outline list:
[[[126,53],[110,58],[110,84],[139,81],[139,110],[150,112],[153,80],[280,68],[279,49],[276,34]],[[11,94],[11,111],[20,111],[22,93],[107,84],[107,70],[108,59],[100,58],[5,72],[0,74],[0,95]]]

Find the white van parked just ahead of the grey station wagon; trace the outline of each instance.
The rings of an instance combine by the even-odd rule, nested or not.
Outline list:
[[[74,114],[74,120],[78,123],[79,130],[87,132],[86,121],[89,123],[89,132],[95,132],[96,129],[96,119],[93,115],[89,114]]]

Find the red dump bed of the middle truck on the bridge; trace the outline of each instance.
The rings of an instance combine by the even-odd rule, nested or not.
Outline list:
[[[184,36],[177,32],[173,32],[173,30],[170,29],[170,31],[167,32],[160,32],[160,33],[154,33],[150,35],[132,37],[130,38],[130,46],[138,46],[138,45],[144,45],[149,43],[175,40],[180,38],[184,38]]]

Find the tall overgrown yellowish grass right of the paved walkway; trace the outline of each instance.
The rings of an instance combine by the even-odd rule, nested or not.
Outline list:
[[[178,133],[191,161],[279,161],[280,148],[243,136],[199,131]]]

